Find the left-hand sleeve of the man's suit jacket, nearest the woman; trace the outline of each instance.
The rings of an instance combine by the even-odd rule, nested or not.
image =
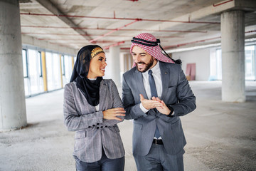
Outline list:
[[[129,88],[124,75],[122,81],[122,101],[124,109],[126,110],[125,119],[131,120],[147,116],[146,113],[144,113],[139,107],[140,103],[134,103],[134,96],[132,95],[132,90]]]

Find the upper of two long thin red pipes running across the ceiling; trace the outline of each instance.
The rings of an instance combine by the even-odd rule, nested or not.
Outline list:
[[[21,15],[31,16],[65,16],[76,18],[88,18],[88,19],[116,19],[116,20],[138,20],[138,21],[156,21],[156,22],[174,22],[174,23],[187,23],[187,24],[220,24],[220,22],[206,22],[206,21],[174,21],[174,20],[154,20],[154,19],[131,19],[131,18],[117,18],[117,17],[103,17],[103,16],[72,16],[72,15],[60,15],[60,14],[35,14],[35,13],[20,13]]]

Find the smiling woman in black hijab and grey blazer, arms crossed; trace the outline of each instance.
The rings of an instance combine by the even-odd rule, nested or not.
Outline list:
[[[117,86],[103,80],[107,66],[100,46],[80,49],[70,83],[64,89],[64,118],[75,133],[77,170],[124,170],[124,147],[117,123],[125,110]]]

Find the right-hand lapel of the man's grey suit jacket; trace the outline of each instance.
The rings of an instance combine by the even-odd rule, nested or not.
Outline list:
[[[160,71],[161,71],[161,81],[162,81],[162,87],[163,87],[162,94],[161,94],[161,100],[164,100],[166,91],[168,90],[169,79],[170,79],[171,73],[169,73],[169,69],[166,67],[166,65],[164,65],[164,63],[159,62],[159,66],[160,66]]]

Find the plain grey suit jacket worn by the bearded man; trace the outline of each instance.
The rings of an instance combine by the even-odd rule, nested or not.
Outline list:
[[[125,119],[134,119],[133,154],[147,155],[152,145],[156,125],[164,142],[164,148],[170,155],[183,150],[186,139],[179,116],[186,115],[196,108],[196,97],[188,85],[181,66],[175,63],[159,62],[163,92],[161,100],[174,108],[174,117],[149,110],[144,113],[139,108],[142,94],[147,98],[142,73],[134,67],[123,75],[122,100],[126,110]]]

